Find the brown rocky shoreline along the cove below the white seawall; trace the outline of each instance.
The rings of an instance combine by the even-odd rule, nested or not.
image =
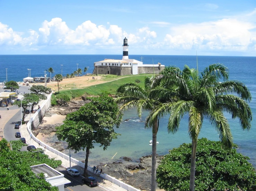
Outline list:
[[[68,106],[65,107],[51,107],[45,117],[52,117],[56,114],[67,115],[70,112],[78,110],[82,105],[88,103],[89,100],[72,100]],[[129,119],[126,119],[126,121]],[[55,127],[62,125],[63,123],[55,124],[44,124],[45,120],[41,122],[36,130],[34,130],[35,136],[42,133],[42,136],[56,132]],[[58,151],[63,151],[65,149],[64,143],[61,141],[56,141],[51,144],[51,147]],[[163,156],[157,156],[157,166],[161,162]],[[84,161],[82,161],[84,162]],[[151,166],[152,158],[151,155],[141,157],[140,160],[135,161],[129,157],[123,157],[116,160],[113,163],[101,163],[97,165],[99,169],[103,169],[103,173],[106,173],[118,180],[121,180],[137,189],[150,190],[151,184]]]

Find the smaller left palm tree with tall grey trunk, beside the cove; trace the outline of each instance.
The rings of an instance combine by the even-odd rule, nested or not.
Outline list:
[[[141,88],[135,83],[126,83],[117,89],[117,98],[115,101],[121,103],[122,106],[119,113],[122,114],[125,110],[136,108],[139,117],[141,118],[144,110],[152,110],[158,102],[155,98],[149,97],[153,76],[145,78],[145,88]],[[149,118],[149,117],[148,117]],[[151,172],[151,191],[156,190],[156,150],[157,150],[157,132],[159,120],[153,120],[153,123],[145,123],[145,128],[152,127],[152,172]]]

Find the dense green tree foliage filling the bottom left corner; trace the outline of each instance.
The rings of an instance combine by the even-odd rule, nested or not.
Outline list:
[[[42,190],[42,191],[58,191],[58,187],[52,187],[48,183],[44,175],[37,175],[30,169],[30,166],[46,163],[52,168],[61,165],[60,160],[49,159],[48,155],[38,153],[18,151],[22,143],[20,141],[12,141],[12,148],[6,139],[0,141],[0,190]]]

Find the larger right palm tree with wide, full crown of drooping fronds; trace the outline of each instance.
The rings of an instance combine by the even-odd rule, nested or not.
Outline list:
[[[150,112],[150,122],[170,114],[168,132],[176,133],[180,119],[188,113],[188,133],[192,139],[191,170],[189,191],[195,187],[195,162],[198,135],[203,119],[208,119],[219,134],[223,147],[231,149],[233,138],[229,123],[223,112],[238,118],[243,130],[251,127],[252,113],[248,105],[250,91],[239,81],[228,80],[228,69],[222,64],[211,64],[201,75],[185,66],[183,71],[177,67],[165,68],[156,81],[160,86],[152,94],[165,100]]]

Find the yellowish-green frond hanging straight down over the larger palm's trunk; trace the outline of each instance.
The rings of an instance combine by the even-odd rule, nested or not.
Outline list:
[[[191,139],[197,140],[203,123],[203,108],[191,107],[188,118],[188,133]]]

